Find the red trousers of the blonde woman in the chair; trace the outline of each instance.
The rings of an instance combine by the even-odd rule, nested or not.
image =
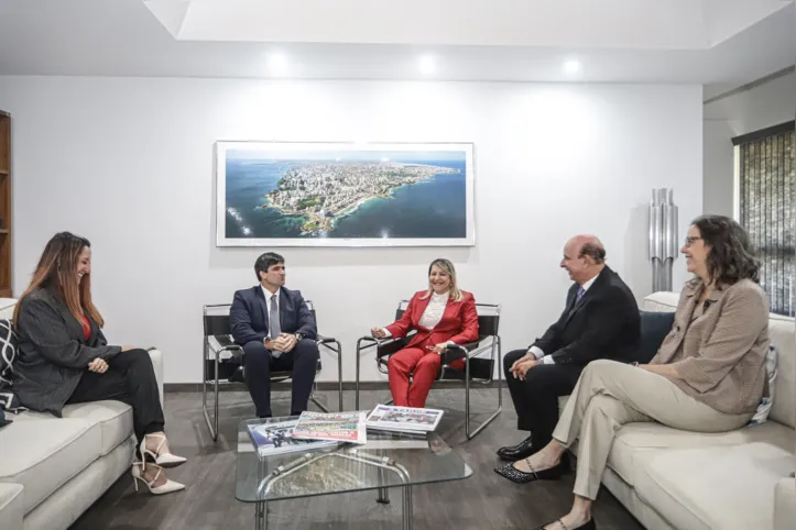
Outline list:
[[[428,390],[432,389],[434,379],[441,365],[441,358],[430,350],[421,347],[404,347],[388,361],[388,377],[390,378],[390,391],[396,407],[426,406]],[[410,385],[412,375],[412,385]]]

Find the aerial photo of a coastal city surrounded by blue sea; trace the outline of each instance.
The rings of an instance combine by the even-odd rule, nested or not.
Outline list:
[[[228,150],[228,239],[465,238],[465,151]]]

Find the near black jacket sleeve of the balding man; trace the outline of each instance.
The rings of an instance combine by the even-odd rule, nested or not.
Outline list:
[[[586,366],[591,361],[602,358],[601,352],[625,330],[628,322],[639,319],[634,300],[630,300],[622,288],[613,285],[589,302],[588,311],[589,325],[580,336],[552,354],[556,364]]]

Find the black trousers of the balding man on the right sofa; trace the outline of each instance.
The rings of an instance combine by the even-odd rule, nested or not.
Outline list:
[[[525,373],[525,380],[515,378],[510,372],[514,361],[527,350],[514,350],[503,357],[506,384],[514,401],[521,431],[531,431],[534,448],[542,449],[553,440],[553,430],[558,423],[558,397],[573,393],[580,377],[582,366],[539,364]]]

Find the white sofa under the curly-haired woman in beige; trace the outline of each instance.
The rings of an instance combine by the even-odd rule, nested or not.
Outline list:
[[[642,310],[674,311],[678,294]],[[796,330],[771,316],[779,357],[775,399],[760,426],[698,434],[656,423],[618,433],[602,484],[651,530],[796,529]]]

